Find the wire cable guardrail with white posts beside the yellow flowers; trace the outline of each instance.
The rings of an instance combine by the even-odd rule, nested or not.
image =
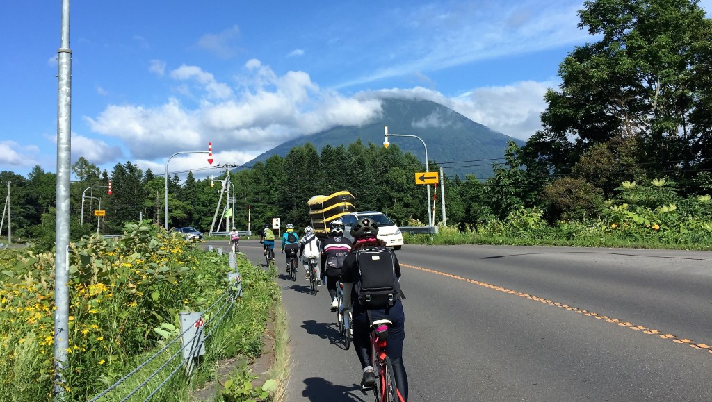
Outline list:
[[[232,262],[233,258],[231,258],[231,265]],[[108,386],[108,388],[98,393],[88,402],[99,401],[100,398],[103,398],[108,393],[115,390],[118,386],[125,383],[125,381],[131,379],[137,373],[141,372],[142,369],[144,369],[148,364],[150,364],[151,361],[157,359],[159,356],[164,354],[164,352],[167,351],[167,349],[169,349],[173,344],[176,344],[179,341],[182,342],[182,346],[180,347],[180,349],[178,349],[174,354],[172,354],[172,356],[170,356],[166,361],[164,361],[163,364],[159,366],[159,368],[155,369],[155,371],[149,374],[145,378],[145,380],[141,381],[140,384],[138,384],[129,393],[127,393],[127,395],[122,398],[121,401],[127,401],[129,400],[129,398],[132,398],[132,396],[135,396],[137,392],[139,392],[142,388],[147,387],[153,379],[155,379],[164,369],[166,369],[166,367],[170,366],[171,364],[175,365],[173,371],[171,371],[159,384],[155,386],[155,388],[152,389],[151,393],[144,399],[144,401],[149,401],[151,398],[153,398],[156,393],[165,384],[167,384],[168,381],[170,381],[170,379],[172,379],[172,377],[177,374],[178,371],[180,371],[180,369],[185,368],[186,374],[191,374],[192,368],[194,367],[198,357],[204,354],[206,340],[209,339],[210,334],[220,326],[220,324],[224,321],[229,312],[232,310],[234,302],[237,300],[238,297],[242,295],[241,277],[239,275],[239,271],[237,270],[236,264],[234,268],[236,272],[228,274],[228,286],[226,287],[224,292],[222,292],[222,294],[211,305],[209,305],[209,307],[206,307],[203,312],[189,314],[189,319],[183,319],[181,321],[182,330],[181,332],[179,332],[179,334],[177,334],[167,344],[165,344],[164,347],[156,351],[155,354],[148,357],[145,361],[139,364],[139,366],[130,371],[130,373],[123,376],[114,384]],[[219,308],[217,308],[217,310],[211,313],[211,311],[214,310],[218,305],[220,305]],[[204,317],[208,318],[204,319]],[[185,325],[183,325],[184,322],[186,323]],[[207,334],[204,335],[205,330],[208,328],[209,331],[207,332]],[[182,361],[178,362],[177,359],[181,355]],[[142,373],[142,375],[145,374]]]

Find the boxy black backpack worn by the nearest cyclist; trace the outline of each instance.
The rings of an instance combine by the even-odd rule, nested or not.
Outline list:
[[[358,250],[356,264],[360,273],[355,283],[359,304],[367,310],[392,307],[400,298],[393,252],[387,248]]]

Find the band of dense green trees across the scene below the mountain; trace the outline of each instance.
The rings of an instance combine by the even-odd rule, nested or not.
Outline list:
[[[587,1],[579,16],[596,41],[560,63],[560,86],[545,95],[543,128],[523,147],[509,144],[484,181],[445,169],[449,226],[476,230],[528,210],[550,227],[576,221],[621,228],[629,218],[655,231],[694,226],[711,233],[711,20],[695,0]],[[446,162],[431,161],[430,170]],[[100,172],[83,158],[72,170],[73,237],[96,230],[95,199],[85,200],[79,225],[84,189],[109,180],[114,194],[86,194],[106,211],[102,233],[117,233],[140,214],[163,222],[162,176],[131,162]],[[273,217],[303,227],[308,199],[340,190],[351,191],[360,210],[383,211],[401,225],[426,222],[418,171],[424,164],[397,146],[305,144],[230,175],[236,224],[247,228],[251,206],[252,228]],[[12,186],[13,235],[50,245],[55,174],[36,166],[27,178],[3,171],[0,180]],[[219,186],[210,184],[192,173],[169,178],[169,226],[209,229],[219,197]]]

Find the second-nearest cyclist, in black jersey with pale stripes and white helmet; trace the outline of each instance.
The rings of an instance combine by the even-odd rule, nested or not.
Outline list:
[[[336,282],[341,277],[341,265],[351,250],[351,241],[344,237],[344,223],[337,218],[329,223],[329,237],[321,242],[321,275],[326,276],[326,288],[331,297],[331,311],[336,311]]]

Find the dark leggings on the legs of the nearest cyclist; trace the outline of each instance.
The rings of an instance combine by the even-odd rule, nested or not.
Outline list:
[[[389,319],[393,324],[388,328],[388,343],[386,354],[393,365],[393,375],[396,378],[398,391],[404,401],[408,401],[408,376],[403,364],[403,342],[405,340],[405,314],[400,300],[391,307],[388,314],[384,310],[371,310],[372,319]],[[370,322],[367,313],[359,305],[354,306],[353,320],[354,349],[361,362],[361,368],[372,366],[369,354],[371,353]]]

